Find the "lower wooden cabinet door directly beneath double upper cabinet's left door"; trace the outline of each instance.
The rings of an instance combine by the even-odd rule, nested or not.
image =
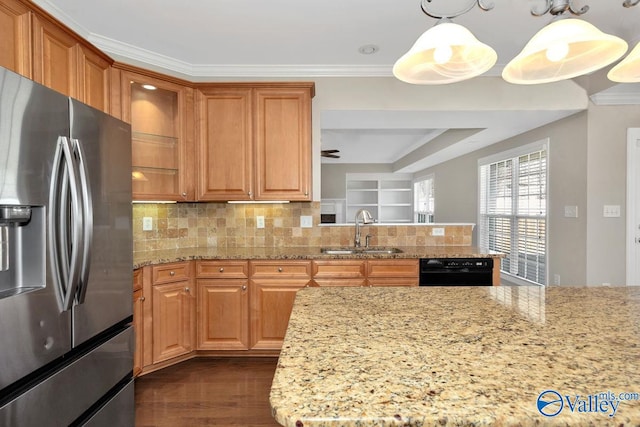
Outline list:
[[[198,350],[249,348],[246,279],[198,279]]]

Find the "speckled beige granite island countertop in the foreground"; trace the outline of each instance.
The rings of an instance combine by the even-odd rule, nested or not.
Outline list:
[[[306,288],[270,401],[290,427],[637,426],[639,362],[640,287]]]

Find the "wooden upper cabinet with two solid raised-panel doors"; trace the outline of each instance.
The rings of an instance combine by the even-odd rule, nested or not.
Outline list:
[[[198,85],[198,200],[311,200],[313,90],[304,82]]]

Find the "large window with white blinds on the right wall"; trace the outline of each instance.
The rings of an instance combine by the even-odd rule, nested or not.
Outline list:
[[[480,245],[507,254],[503,273],[546,285],[546,141],[480,159],[478,166]]]

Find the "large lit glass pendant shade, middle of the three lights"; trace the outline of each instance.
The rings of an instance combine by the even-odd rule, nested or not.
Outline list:
[[[504,68],[517,84],[550,83],[596,71],[619,59],[627,42],[581,19],[561,18],[542,28]]]

